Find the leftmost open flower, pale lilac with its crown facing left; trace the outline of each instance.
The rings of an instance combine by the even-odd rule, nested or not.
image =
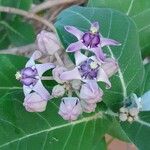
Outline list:
[[[52,63],[35,64],[35,60],[41,57],[40,51],[35,51],[25,68],[16,73],[16,79],[23,84],[25,96],[32,91],[38,93],[44,100],[51,98],[51,95],[43,86],[41,78],[44,72],[55,67]]]

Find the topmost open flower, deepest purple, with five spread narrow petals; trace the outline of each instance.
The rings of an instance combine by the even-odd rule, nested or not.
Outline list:
[[[76,36],[77,42],[68,46],[67,52],[76,52],[80,49],[85,49],[93,52],[99,60],[105,59],[105,54],[102,47],[109,45],[120,45],[119,42],[103,38],[99,33],[99,23],[94,22],[91,24],[90,31],[82,32],[74,26],[65,26],[65,30]]]

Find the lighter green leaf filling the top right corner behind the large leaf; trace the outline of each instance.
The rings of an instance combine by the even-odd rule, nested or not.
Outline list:
[[[113,8],[130,16],[138,27],[143,56],[150,55],[150,1],[149,0],[89,0],[87,6]],[[143,19],[144,18],[144,19]]]

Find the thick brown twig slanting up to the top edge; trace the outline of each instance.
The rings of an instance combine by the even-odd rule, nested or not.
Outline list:
[[[42,4],[39,4],[32,8],[31,12],[38,13],[40,11],[43,11],[45,9],[51,8],[56,5],[64,4],[64,3],[72,3],[76,2],[78,0],[49,0],[46,2],[43,2]]]

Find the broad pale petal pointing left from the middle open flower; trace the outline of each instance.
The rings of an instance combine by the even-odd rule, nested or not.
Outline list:
[[[74,80],[74,79],[80,79],[81,80],[81,75],[79,73],[79,70],[77,67],[75,67],[71,71],[65,71],[60,75],[60,78],[62,80]]]

